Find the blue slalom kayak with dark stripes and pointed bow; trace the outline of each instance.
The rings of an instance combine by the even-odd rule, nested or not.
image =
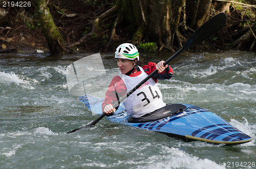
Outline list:
[[[84,95],[80,96],[78,100],[91,111],[102,114],[101,104],[104,99]],[[115,114],[106,118],[111,122],[161,132],[170,137],[177,137],[186,141],[200,140],[231,145],[252,140],[250,136],[206,109],[189,104],[181,105],[186,106],[186,109],[177,114],[151,122],[129,123],[127,120],[129,116],[126,114],[123,103],[121,103]]]

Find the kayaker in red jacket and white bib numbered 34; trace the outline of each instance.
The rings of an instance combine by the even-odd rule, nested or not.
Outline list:
[[[169,65],[163,66],[164,61],[160,61],[157,64],[150,62],[140,67],[139,52],[136,46],[131,43],[119,45],[115,52],[115,58],[121,74],[112,79],[109,89],[105,93],[102,111],[107,116],[114,114],[118,107],[114,108],[113,104],[119,98],[124,96],[126,92],[129,92],[155,69],[158,70],[158,73],[126,98],[124,100],[124,106],[127,115],[137,118],[161,109],[166,105],[162,100],[162,93],[156,86],[156,82],[157,80],[172,78],[172,67]]]

